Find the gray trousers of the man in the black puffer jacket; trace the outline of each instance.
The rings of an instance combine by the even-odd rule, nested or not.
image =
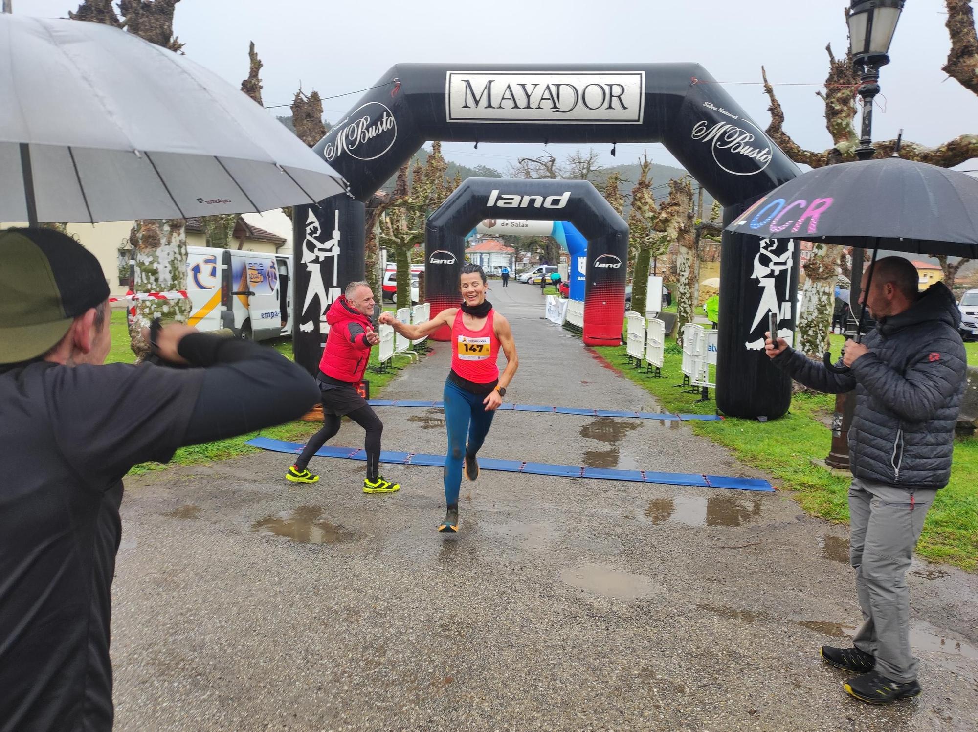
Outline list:
[[[907,570],[936,492],[859,478],[849,487],[849,558],[863,610],[863,626],[853,645],[872,654],[876,671],[893,681],[916,678]]]

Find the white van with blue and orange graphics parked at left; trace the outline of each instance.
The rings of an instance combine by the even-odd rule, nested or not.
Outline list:
[[[190,325],[230,328],[246,341],[289,335],[289,258],[260,252],[187,248]]]

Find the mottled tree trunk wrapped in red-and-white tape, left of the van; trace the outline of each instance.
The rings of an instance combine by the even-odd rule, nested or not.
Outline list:
[[[182,218],[137,220],[129,241],[135,259],[134,292],[165,293],[187,289],[187,222]],[[129,326],[133,353],[142,360],[149,346],[140,335],[156,316],[165,322],[186,323],[189,299],[149,299],[136,303],[136,317]]]

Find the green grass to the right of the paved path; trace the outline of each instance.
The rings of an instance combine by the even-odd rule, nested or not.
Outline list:
[[[837,356],[842,337],[832,340],[832,352]],[[674,385],[682,381],[682,352],[673,340],[667,342],[663,379],[652,379],[629,367],[624,345],[595,350],[628,379],[658,397],[668,412],[712,414],[716,409],[714,401],[693,404],[698,394],[675,389]],[[972,363],[974,354],[974,349],[969,350]],[[730,448],[740,462],[770,474],[778,487],[794,491],[805,511],[831,522],[847,523],[849,480],[836,478],[811,463],[828,453],[831,435],[819,418],[830,415],[834,404],[832,394],[796,393],[789,412],[774,422],[728,418],[687,424],[696,435]],[[937,493],[917,553],[932,562],[978,570],[978,438],[956,439],[951,482]]]

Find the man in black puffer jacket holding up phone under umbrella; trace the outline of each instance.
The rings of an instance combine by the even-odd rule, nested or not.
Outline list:
[[[960,313],[943,283],[917,293],[911,262],[887,256],[871,268],[861,292],[877,326],[863,343],[849,341],[835,374],[767,341],[768,355],[810,389],[856,389],[849,428],[853,481],[849,488],[850,559],[863,610],[855,648],[822,646],[822,658],[862,675],[845,689],[857,699],[888,704],[920,693],[911,653],[907,570],[938,489],[951,478],[955,423],[966,386]]]

